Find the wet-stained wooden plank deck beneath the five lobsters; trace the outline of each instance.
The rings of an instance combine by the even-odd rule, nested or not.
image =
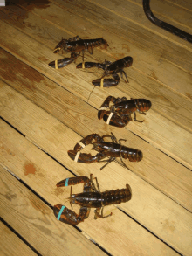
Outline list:
[[[190,0],[151,7],[192,34]],[[0,34],[0,254],[192,255],[192,45],[151,24],[141,0],[10,1],[0,8]],[[86,53],[92,61],[132,56],[129,84],[101,89],[92,85],[98,74],[74,63],[48,66],[65,58],[52,52],[61,38],[77,35],[108,42]],[[97,118],[109,95],[145,98],[152,108],[137,115],[143,123],[114,128]],[[143,152],[140,163],[126,160],[130,170],[113,162],[100,171],[102,163],[67,155],[82,137],[111,132]],[[52,207],[70,208],[70,189],[56,183],[91,173],[101,191],[129,183],[131,201],[107,206],[106,219],[94,220],[92,210],[77,228],[59,222]],[[82,184],[72,187],[79,191]]]

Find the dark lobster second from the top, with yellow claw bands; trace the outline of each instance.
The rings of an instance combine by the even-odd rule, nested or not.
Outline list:
[[[122,80],[123,74],[126,77],[126,80],[124,80],[126,83],[128,83],[127,74],[123,70],[124,67],[131,66],[133,63],[133,58],[130,56],[127,56],[123,59],[119,59],[114,61],[113,63],[110,61],[105,60],[104,63],[96,63],[96,62],[85,62],[85,63],[79,63],[77,68],[82,68],[85,66],[85,68],[91,68],[91,67],[98,67],[104,70],[104,73],[100,79],[93,80],[92,83],[94,86],[100,86],[100,87],[112,87],[117,86],[120,83],[120,76]],[[120,73],[120,76],[118,75]],[[106,76],[113,76],[113,79],[104,79]]]

